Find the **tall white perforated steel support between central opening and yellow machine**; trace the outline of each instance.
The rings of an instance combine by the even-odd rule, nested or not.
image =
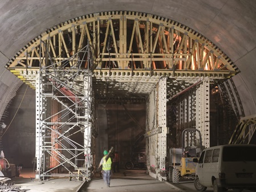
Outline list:
[[[147,165],[151,177],[166,180],[166,78],[161,78],[147,101]]]

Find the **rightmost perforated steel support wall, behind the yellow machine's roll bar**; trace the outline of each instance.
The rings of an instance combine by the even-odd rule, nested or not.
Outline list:
[[[194,79],[194,84],[176,98],[176,145],[181,146],[184,129],[198,129],[202,145],[210,146],[210,79]]]

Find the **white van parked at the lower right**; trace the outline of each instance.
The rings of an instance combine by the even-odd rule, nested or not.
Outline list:
[[[198,191],[213,187],[214,192],[256,190],[256,145],[221,145],[204,149],[196,166],[194,187]]]

